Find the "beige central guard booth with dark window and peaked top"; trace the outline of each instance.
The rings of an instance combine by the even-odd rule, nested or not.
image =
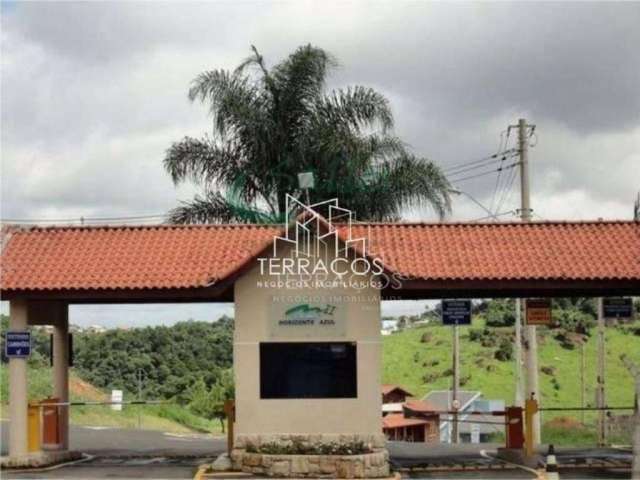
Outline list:
[[[337,233],[320,217],[296,222],[235,283],[239,449],[291,435],[384,447],[380,290],[373,261]]]

